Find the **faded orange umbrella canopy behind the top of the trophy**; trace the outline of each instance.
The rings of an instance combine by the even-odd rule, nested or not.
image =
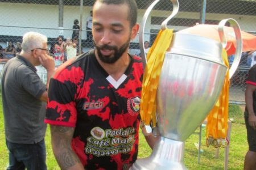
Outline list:
[[[183,29],[179,32],[204,36],[210,39],[220,41],[220,36],[218,35],[218,25],[198,24],[193,27]],[[224,33],[227,41],[227,45],[225,49],[228,53],[228,56],[230,56],[236,53],[236,37],[234,35],[234,29],[232,27],[225,26]],[[241,31],[241,36],[242,36],[242,52],[247,52],[247,51],[256,49],[256,36],[250,33],[247,33],[245,31]]]

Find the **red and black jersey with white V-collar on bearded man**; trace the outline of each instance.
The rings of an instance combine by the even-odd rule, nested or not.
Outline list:
[[[72,148],[86,169],[122,169],[137,159],[143,64],[130,57],[118,81],[94,50],[64,63],[51,79],[45,122],[75,127]]]

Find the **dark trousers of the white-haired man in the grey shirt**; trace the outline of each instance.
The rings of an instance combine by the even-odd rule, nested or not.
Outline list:
[[[34,144],[12,143],[6,140],[6,146],[9,150],[9,167],[7,167],[7,170],[47,169],[44,139]]]

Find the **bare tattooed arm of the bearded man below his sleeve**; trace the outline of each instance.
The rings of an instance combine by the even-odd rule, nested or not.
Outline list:
[[[80,163],[79,158],[71,148],[74,130],[70,127],[51,125],[53,153],[61,169],[68,169]]]

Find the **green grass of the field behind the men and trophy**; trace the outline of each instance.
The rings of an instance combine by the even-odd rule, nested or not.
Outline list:
[[[0,101],[2,104],[2,101]],[[229,148],[229,164],[228,169],[243,169],[243,159],[247,152],[246,129],[243,120],[243,111],[238,105],[229,107],[229,118],[234,118],[232,122],[232,132],[230,137]],[[196,131],[198,131],[197,129]],[[192,134],[185,142],[184,164],[188,169],[224,169],[224,150],[220,148],[218,158],[215,158],[216,148],[205,145],[205,128],[202,133],[201,162],[197,163],[197,148],[194,143],[197,143],[199,136]],[[60,169],[55,161],[51,150],[51,137],[49,128],[46,133],[47,147],[47,166],[48,169]],[[151,149],[144,141],[144,137],[140,134],[139,158],[146,158],[151,154]],[[3,125],[2,106],[0,105],[0,170],[6,169],[8,164],[8,151],[5,145],[5,133]],[[160,170],[160,169],[159,169]]]

